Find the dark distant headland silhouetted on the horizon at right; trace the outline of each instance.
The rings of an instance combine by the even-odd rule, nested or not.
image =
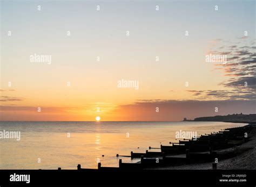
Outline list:
[[[184,118],[183,121],[223,121],[232,123],[256,123],[256,114],[228,114],[227,116],[199,117],[194,120]]]

